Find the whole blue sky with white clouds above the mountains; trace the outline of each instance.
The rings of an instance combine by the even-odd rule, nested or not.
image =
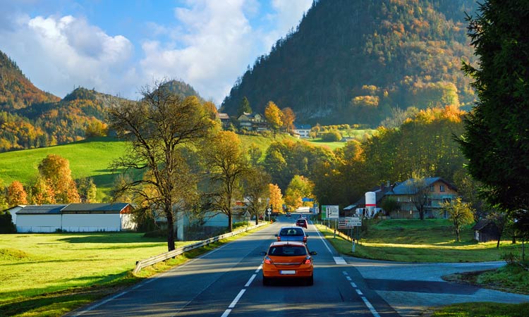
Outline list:
[[[221,103],[312,0],[0,0],[0,50],[39,89],[138,99],[153,80]]]

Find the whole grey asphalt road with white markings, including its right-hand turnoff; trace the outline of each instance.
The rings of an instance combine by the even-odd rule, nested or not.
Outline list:
[[[317,251],[314,285],[276,282],[262,285],[261,251],[281,225],[281,217],[252,235],[125,292],[68,316],[418,316],[428,306],[451,302],[529,302],[521,297],[444,282],[440,276],[476,271],[501,263],[409,264],[344,259],[309,225],[308,247]],[[499,293],[499,294],[498,294]],[[481,298],[481,299],[479,299]]]

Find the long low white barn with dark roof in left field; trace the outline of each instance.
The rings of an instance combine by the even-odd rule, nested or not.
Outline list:
[[[131,211],[126,203],[28,205],[10,209],[17,232],[135,230]]]

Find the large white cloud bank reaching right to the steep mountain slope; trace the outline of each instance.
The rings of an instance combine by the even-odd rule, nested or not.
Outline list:
[[[142,44],[142,71],[153,78],[184,80],[202,97],[220,104],[246,67],[296,27],[310,4],[312,0],[274,1],[276,13],[270,16],[274,27],[256,30],[248,16],[257,15],[257,1],[188,1],[186,8],[175,9],[181,25],[173,32],[176,42]]]

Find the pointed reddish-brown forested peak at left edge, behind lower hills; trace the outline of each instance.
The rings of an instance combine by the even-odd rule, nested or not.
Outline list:
[[[59,100],[61,100],[59,97],[35,87],[16,63],[0,51],[0,111],[11,111],[32,104]]]

